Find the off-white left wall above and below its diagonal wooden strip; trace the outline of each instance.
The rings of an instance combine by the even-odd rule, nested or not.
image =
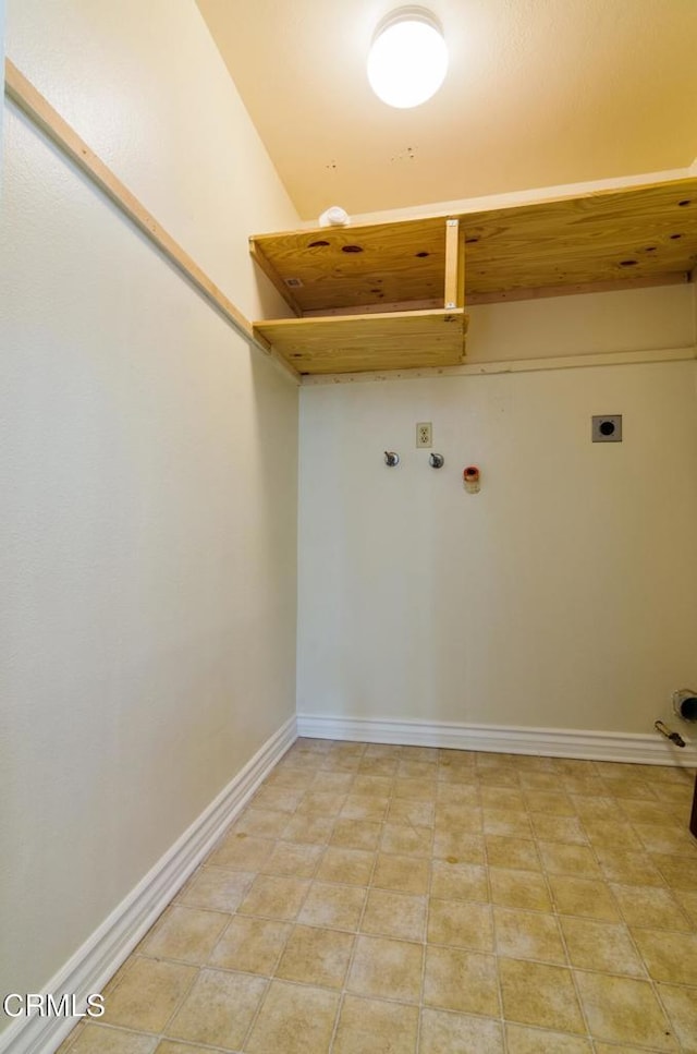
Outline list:
[[[193,0],[11,0],[8,53],[258,313],[247,234],[297,217]],[[294,713],[297,388],[4,118],[7,993],[44,991]]]

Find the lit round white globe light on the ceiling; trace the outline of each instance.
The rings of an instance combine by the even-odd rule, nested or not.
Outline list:
[[[400,8],[382,20],[368,54],[368,81],[383,102],[399,109],[436,95],[448,72],[448,48],[425,8]]]

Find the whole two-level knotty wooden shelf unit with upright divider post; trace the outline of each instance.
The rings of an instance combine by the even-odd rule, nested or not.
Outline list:
[[[254,332],[301,373],[453,365],[464,358],[465,300],[688,281],[697,266],[697,179],[261,234],[250,252],[299,316],[256,323]]]

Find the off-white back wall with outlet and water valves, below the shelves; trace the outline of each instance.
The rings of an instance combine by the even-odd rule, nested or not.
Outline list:
[[[298,713],[650,732],[697,680],[694,379],[688,361],[303,389]],[[622,444],[590,443],[596,413],[624,415]]]

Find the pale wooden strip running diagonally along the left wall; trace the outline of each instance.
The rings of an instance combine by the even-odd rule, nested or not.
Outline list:
[[[299,383],[299,374],[281,356],[277,356],[257,339],[252,323],[208,278],[182,246],[121,182],[111,169],[80,137],[40,92],[14,65],[4,60],[4,93],[65,154],[91,182],[113,202],[121,213],[167,256],[176,269],[198,290],[232,328],[265,355],[271,355],[283,371]]]

